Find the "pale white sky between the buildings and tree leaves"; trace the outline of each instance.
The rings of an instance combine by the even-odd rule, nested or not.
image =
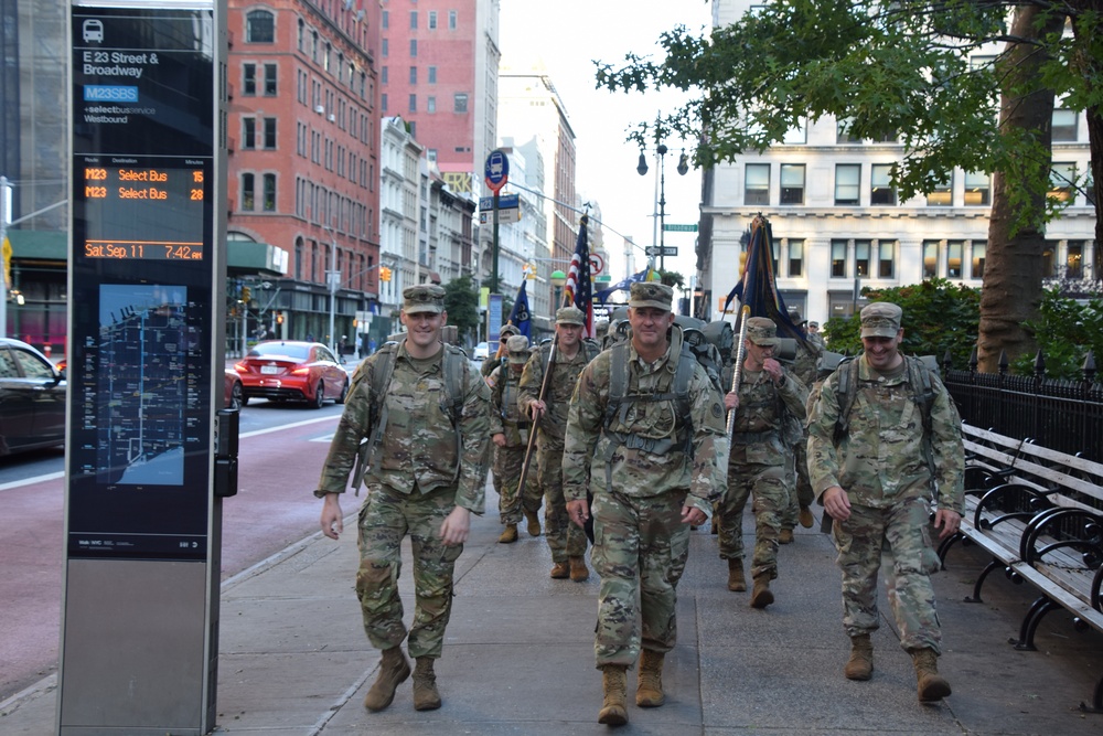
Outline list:
[[[523,68],[542,61],[547,67],[575,130],[576,186],[582,198],[601,204],[614,281],[624,276],[622,236],[632,236],[640,246],[651,245],[653,239],[657,244],[658,238],[653,224],[657,200],[654,146],[647,151],[650,171],[641,177],[635,170],[640,149],[625,137],[641,120],[676,108],[684,95],[595,89],[593,60],[617,65],[632,52],[660,61],[660,35],[679,24],[694,32],[707,29],[711,23],[710,7],[705,0],[502,0],[502,63]],[[676,168],[684,143],[665,142],[670,149],[665,222],[696,223],[700,172],[690,169],[679,177]],[[667,257],[665,266],[682,273],[686,286],[694,275],[695,237],[696,233],[665,234],[665,244],[678,248],[678,256]],[[638,250],[636,268],[644,264],[645,257]]]

